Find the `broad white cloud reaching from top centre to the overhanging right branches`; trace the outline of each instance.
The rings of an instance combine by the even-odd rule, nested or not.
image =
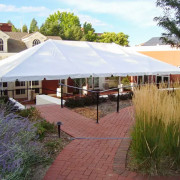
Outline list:
[[[115,15],[139,26],[153,26],[153,18],[160,14],[155,0],[59,0],[79,11]]]

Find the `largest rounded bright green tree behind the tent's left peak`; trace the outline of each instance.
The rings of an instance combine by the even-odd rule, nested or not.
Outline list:
[[[46,36],[60,36],[67,40],[80,40],[83,35],[79,18],[73,13],[60,11],[46,19],[40,32]]]

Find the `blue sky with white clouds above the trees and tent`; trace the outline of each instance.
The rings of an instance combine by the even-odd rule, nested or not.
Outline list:
[[[130,45],[146,42],[164,31],[153,21],[162,10],[156,0],[0,0],[0,22],[11,20],[20,28],[32,18],[38,25],[56,11],[73,12],[81,23],[90,22],[96,32],[123,32]]]

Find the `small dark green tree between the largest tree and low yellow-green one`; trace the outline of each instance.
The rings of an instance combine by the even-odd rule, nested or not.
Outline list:
[[[83,24],[83,41],[96,41],[97,34],[95,33],[95,29],[92,27],[91,23],[85,22]]]

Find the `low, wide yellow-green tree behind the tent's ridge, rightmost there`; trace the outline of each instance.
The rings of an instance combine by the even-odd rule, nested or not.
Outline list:
[[[99,37],[99,42],[103,43],[116,43],[121,46],[128,46],[128,35],[120,32],[120,33],[114,33],[114,32],[105,32]]]

